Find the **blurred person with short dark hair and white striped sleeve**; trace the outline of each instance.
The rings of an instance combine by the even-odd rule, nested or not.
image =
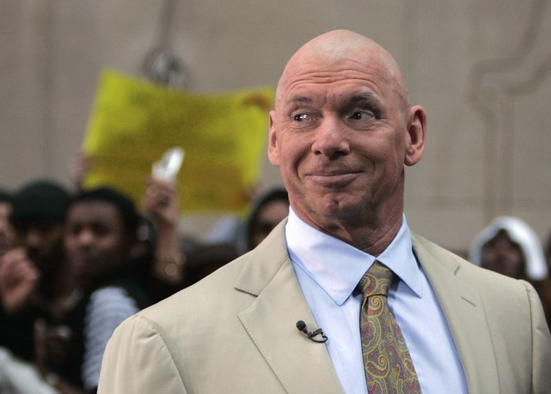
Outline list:
[[[65,343],[52,344],[48,333],[56,327],[37,325],[37,366],[61,393],[94,393],[107,340],[149,305],[134,256],[139,220],[132,201],[112,188],[85,190],[70,201],[65,250],[83,296],[65,316]]]

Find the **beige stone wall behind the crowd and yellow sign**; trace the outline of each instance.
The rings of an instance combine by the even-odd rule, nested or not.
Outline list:
[[[551,4],[542,0],[280,0],[176,2],[174,52],[190,88],[275,84],[313,36],[355,30],[401,65],[428,111],[428,149],[407,171],[417,232],[464,249],[497,214],[551,230]],[[158,0],[2,0],[0,186],[69,183],[103,67],[141,75]],[[264,184],[280,182],[264,164]],[[213,217],[188,217],[204,232]]]

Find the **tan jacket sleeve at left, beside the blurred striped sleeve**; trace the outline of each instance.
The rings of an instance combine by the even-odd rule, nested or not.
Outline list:
[[[142,316],[125,320],[103,355],[98,394],[185,394],[185,386],[163,338]]]

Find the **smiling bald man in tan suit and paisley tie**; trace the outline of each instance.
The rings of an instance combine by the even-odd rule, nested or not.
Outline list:
[[[337,30],[301,47],[270,113],[288,219],[118,327],[99,393],[548,393],[532,287],[408,228],[425,131],[380,45]]]

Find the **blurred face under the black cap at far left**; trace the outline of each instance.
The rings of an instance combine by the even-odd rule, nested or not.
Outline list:
[[[17,223],[17,238],[28,258],[41,270],[50,272],[63,256],[63,224],[36,219]]]

